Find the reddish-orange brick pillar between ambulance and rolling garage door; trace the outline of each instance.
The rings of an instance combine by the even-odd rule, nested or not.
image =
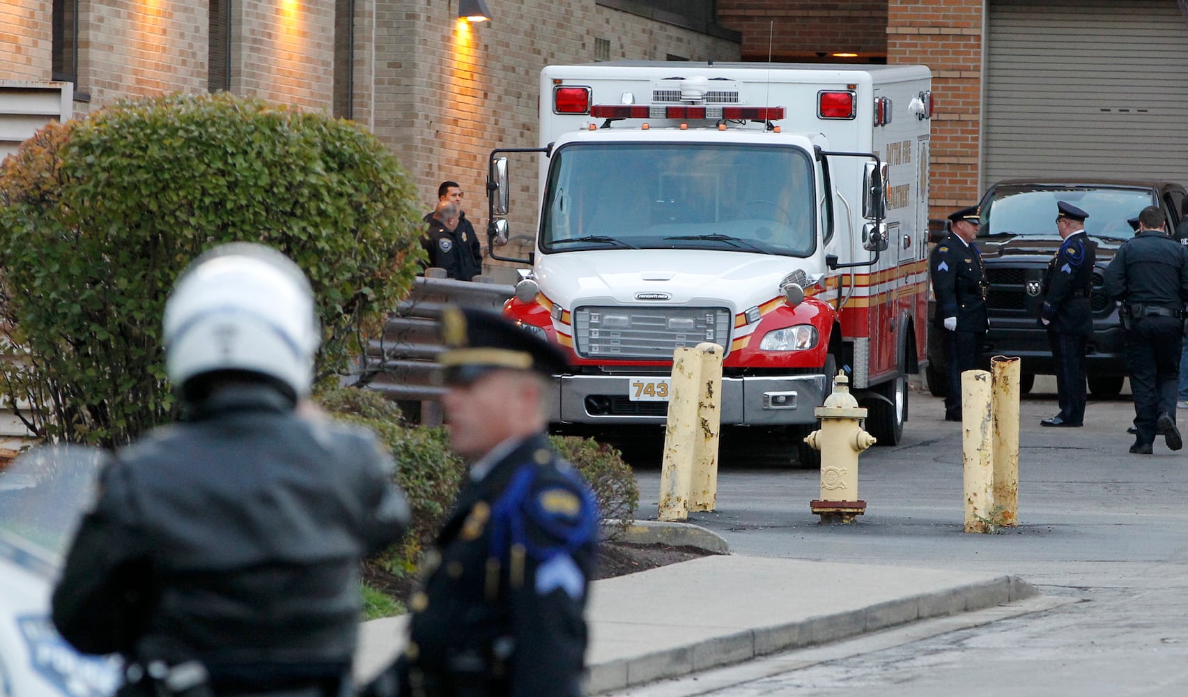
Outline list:
[[[981,32],[982,0],[889,0],[887,62],[933,69],[931,217],[973,205],[981,195]]]

